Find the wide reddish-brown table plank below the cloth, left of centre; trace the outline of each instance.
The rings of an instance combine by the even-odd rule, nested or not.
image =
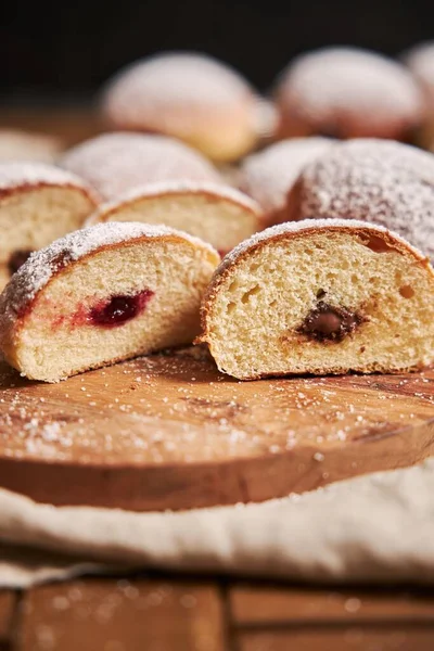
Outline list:
[[[29,590],[22,651],[225,651],[218,587],[191,582],[76,580]]]

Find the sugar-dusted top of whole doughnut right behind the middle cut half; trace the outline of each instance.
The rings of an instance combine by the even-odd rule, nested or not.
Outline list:
[[[86,178],[107,200],[144,183],[224,182],[204,156],[165,136],[104,133],[69,150],[60,165]]]

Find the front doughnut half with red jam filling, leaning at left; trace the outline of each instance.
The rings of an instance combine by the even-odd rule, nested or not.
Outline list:
[[[199,332],[219,261],[199,239],[144,224],[99,224],[33,254],[0,295],[0,348],[33,380],[170,346]]]

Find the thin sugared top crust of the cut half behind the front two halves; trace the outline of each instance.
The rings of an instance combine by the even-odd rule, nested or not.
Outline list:
[[[126,203],[133,202],[145,197],[157,197],[167,194],[204,194],[213,196],[215,199],[221,199],[230,201],[232,203],[243,206],[247,210],[260,214],[259,205],[253,201],[250,196],[246,196],[242,192],[239,192],[234,188],[229,186],[222,186],[219,183],[212,183],[206,181],[161,181],[159,183],[149,183],[146,186],[140,186],[133,188],[128,192],[122,194],[117,200],[106,202],[98,207],[98,209],[89,217],[89,222],[94,224],[100,219],[104,219],[104,215],[122,208]]]

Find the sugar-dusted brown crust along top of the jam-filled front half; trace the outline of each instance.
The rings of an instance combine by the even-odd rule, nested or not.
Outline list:
[[[11,319],[15,319],[56,271],[68,264],[104,246],[122,244],[143,237],[165,235],[177,235],[192,242],[195,246],[208,250],[218,258],[217,252],[210,244],[166,226],[130,221],[97,224],[69,233],[30,255],[0,295],[0,330]]]

